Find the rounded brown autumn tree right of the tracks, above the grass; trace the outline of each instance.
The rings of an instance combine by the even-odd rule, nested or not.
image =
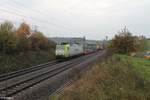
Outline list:
[[[137,52],[142,45],[142,40],[133,36],[126,28],[112,39],[111,47],[117,53],[128,54]]]

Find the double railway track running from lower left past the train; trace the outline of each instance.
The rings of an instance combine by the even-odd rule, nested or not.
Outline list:
[[[27,68],[24,70],[12,72],[9,74],[4,74],[0,76],[0,83],[5,84],[5,81],[15,80],[17,77],[23,77],[21,80],[12,81],[7,84],[6,87],[0,87],[0,97],[12,97],[17,93],[24,91],[34,85],[49,79],[63,71],[66,71],[73,66],[81,63],[82,61],[86,60],[88,57],[91,57],[96,54],[90,54],[86,56],[82,56],[80,58],[75,58],[73,60],[69,60],[66,62],[52,61],[46,64],[34,66],[31,68]],[[51,67],[49,67],[51,66]],[[43,70],[43,71],[42,71]],[[34,73],[37,72],[35,75]],[[40,73],[39,73],[40,72]],[[31,74],[30,77],[25,77],[25,75]],[[33,75],[32,75],[33,74]]]

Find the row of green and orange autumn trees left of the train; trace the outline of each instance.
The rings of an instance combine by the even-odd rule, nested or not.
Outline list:
[[[0,52],[12,53],[25,52],[29,50],[49,50],[55,44],[39,31],[31,33],[30,26],[22,23],[15,30],[11,22],[4,22],[0,25]]]

